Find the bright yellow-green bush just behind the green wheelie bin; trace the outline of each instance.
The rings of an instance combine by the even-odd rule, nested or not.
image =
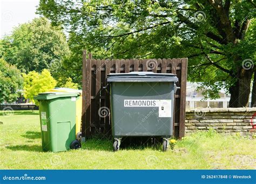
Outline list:
[[[23,84],[23,93],[26,99],[30,99],[33,103],[37,101],[33,100],[34,96],[37,96],[38,93],[43,93],[49,91],[52,88],[55,88],[57,82],[51,76],[51,73],[44,69],[42,73],[36,71],[31,71],[28,74],[23,74],[24,84]]]

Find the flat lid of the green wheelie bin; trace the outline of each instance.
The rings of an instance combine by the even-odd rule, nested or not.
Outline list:
[[[80,93],[71,93],[71,92],[45,92],[39,93],[35,100],[50,100],[55,98],[62,98],[62,97],[77,97]]]

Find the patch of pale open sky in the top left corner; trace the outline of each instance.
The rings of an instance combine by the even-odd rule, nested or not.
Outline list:
[[[39,17],[35,13],[38,4],[39,0],[0,0],[0,38],[15,26]]]

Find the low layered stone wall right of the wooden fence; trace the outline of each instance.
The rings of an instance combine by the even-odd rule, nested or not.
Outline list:
[[[254,119],[255,115],[255,119]],[[213,128],[220,133],[256,133],[256,107],[186,110],[185,134]]]

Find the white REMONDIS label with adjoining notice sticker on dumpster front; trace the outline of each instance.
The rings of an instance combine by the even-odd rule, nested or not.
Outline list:
[[[124,107],[158,107],[159,117],[172,117],[172,100],[124,100]]]

